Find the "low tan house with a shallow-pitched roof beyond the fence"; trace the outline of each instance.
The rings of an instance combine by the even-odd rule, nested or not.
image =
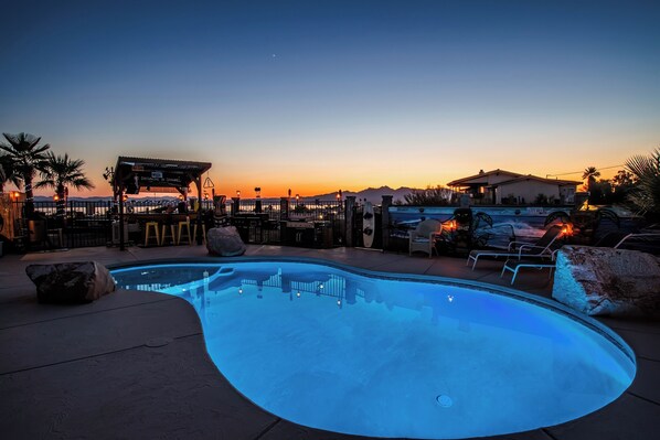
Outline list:
[[[479,174],[457,179],[447,185],[470,194],[477,204],[572,204],[582,182],[543,179],[505,170],[480,171]]]

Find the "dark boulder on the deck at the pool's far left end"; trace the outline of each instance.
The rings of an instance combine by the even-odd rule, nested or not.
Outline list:
[[[96,261],[30,265],[25,273],[36,285],[39,302],[92,302],[116,289],[108,269]]]

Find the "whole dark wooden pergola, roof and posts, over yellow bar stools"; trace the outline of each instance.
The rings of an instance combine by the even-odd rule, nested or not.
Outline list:
[[[115,167],[113,192],[119,198],[119,248],[124,243],[124,194],[139,194],[141,189],[155,192],[179,192],[187,196],[188,187],[198,187],[198,244],[202,244],[202,175],[211,169],[210,162],[170,159],[131,158],[120,155]]]

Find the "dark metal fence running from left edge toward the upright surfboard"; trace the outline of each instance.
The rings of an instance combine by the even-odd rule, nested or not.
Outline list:
[[[196,212],[196,203],[195,200],[187,203],[188,213]],[[147,219],[164,221],[166,212],[174,208],[177,213],[179,204],[171,198],[126,201],[125,216],[132,223],[125,228],[125,242],[143,245]],[[10,244],[8,250],[113,246],[119,243],[118,205],[111,201],[66,201],[60,205],[56,202],[34,202],[33,205],[34,215],[26,219],[25,202],[11,202],[8,211],[14,213],[12,227],[0,232]],[[337,200],[287,200],[286,203],[285,200],[230,200],[223,210],[226,215],[221,216],[210,215],[219,211],[212,201],[202,201],[201,208],[206,228],[233,225],[248,244],[304,247],[343,244],[344,206]]]

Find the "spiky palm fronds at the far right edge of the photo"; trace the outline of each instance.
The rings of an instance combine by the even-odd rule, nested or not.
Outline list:
[[[626,168],[637,178],[637,185],[628,200],[642,214],[660,216],[660,148],[651,155],[634,155],[626,161]]]

